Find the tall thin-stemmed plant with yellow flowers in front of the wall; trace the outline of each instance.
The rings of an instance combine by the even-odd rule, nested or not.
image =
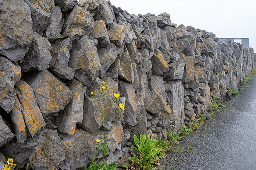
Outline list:
[[[101,83],[101,87],[99,87],[99,97],[96,98],[96,90],[94,92],[91,92],[91,95],[93,96],[93,99],[97,102],[97,104],[99,105],[99,107],[101,108],[103,114],[104,114],[104,134],[103,134],[103,138],[101,138],[101,132],[100,132],[100,127],[98,127],[98,131],[99,131],[99,139],[97,139],[96,142],[96,147],[98,146],[98,153],[100,148],[103,148],[102,154],[103,154],[103,162],[101,165],[98,164],[98,159],[95,158],[95,156],[93,156],[92,159],[92,163],[88,168],[82,168],[81,170],[115,170],[118,166],[118,164],[112,162],[111,164],[107,164],[107,162],[105,162],[105,156],[107,154],[107,149],[109,148],[107,145],[107,141],[106,141],[106,135],[107,133],[112,129],[112,127],[116,124],[119,116],[122,114],[122,110],[125,110],[125,106],[123,104],[119,104],[119,108],[117,108],[117,110],[119,111],[118,116],[116,118],[115,123],[112,125],[112,127],[106,132],[106,112],[108,110],[110,110],[114,104],[118,101],[119,99],[119,94],[115,93],[114,97],[115,97],[115,101],[112,104],[111,107],[107,108],[107,106],[105,105],[105,97],[106,97],[106,92],[107,92],[107,85],[105,84],[105,82],[103,81]],[[95,149],[96,149],[95,147]],[[94,150],[95,152],[95,150]],[[99,155],[99,154],[98,154]],[[99,155],[100,156],[100,155]],[[119,161],[120,163],[120,161]]]

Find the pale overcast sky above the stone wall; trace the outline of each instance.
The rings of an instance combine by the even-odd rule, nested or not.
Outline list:
[[[166,12],[173,23],[213,32],[217,37],[250,38],[256,52],[255,0],[110,0],[130,14]]]

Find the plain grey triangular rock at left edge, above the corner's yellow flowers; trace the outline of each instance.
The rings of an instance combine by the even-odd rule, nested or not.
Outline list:
[[[15,134],[12,133],[12,131],[9,129],[9,127],[5,124],[5,122],[2,119],[2,116],[0,115],[0,147],[11,141]]]

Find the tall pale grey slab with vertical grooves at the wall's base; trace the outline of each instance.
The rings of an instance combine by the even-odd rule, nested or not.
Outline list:
[[[173,111],[176,129],[180,129],[184,124],[184,87],[180,81],[168,81],[165,83],[165,91],[170,99],[170,108]]]

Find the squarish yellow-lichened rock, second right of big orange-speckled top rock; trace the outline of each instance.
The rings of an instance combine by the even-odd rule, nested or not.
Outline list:
[[[110,42],[114,43],[117,47],[122,46],[126,37],[126,32],[127,30],[125,25],[117,25],[115,22],[112,23],[108,30]]]

